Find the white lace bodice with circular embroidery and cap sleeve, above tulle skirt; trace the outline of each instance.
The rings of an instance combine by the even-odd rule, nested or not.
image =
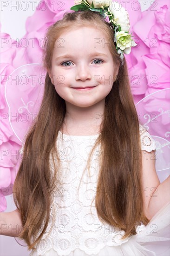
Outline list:
[[[97,135],[74,136],[59,131],[57,139],[62,168],[59,170],[61,186],[54,191],[50,211],[50,222],[46,233],[37,244],[37,255],[43,255],[53,249],[58,255],[68,255],[76,248],[86,254],[97,254],[100,249],[109,245],[119,245],[129,238],[120,241],[124,230],[119,230],[99,221],[95,208],[95,194],[98,179],[98,152],[92,158],[90,175],[85,172],[78,191],[78,185],[86,166],[87,157],[97,139]],[[140,125],[141,149],[151,152],[156,144],[151,135]],[[52,161],[50,167],[53,169]],[[92,203],[92,214],[90,205]],[[52,219],[55,220],[52,226]]]

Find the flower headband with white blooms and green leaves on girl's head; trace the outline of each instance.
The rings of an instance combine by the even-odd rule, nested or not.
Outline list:
[[[109,17],[111,29],[114,30],[114,43],[118,54],[124,64],[124,54],[131,53],[131,47],[137,44],[129,34],[130,22],[128,12],[120,5],[119,2],[111,0],[77,0],[75,6],[70,9],[73,11],[91,10],[99,12],[103,17]],[[118,8],[116,8],[116,5]],[[122,66],[121,65],[121,66]]]

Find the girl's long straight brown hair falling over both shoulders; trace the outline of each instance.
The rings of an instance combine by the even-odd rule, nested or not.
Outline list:
[[[121,66],[120,55],[114,45],[113,30],[103,16],[90,10],[65,13],[63,19],[48,27],[46,32],[43,53],[43,63],[47,71],[44,96],[39,113],[26,136],[22,162],[13,185],[13,190],[18,191],[13,197],[23,224],[20,238],[26,241],[29,249],[33,249],[40,241],[48,225],[51,194],[56,186],[54,181],[60,166],[56,140],[64,122],[66,107],[65,100],[56,92],[48,74],[48,70],[52,68],[54,43],[63,32],[82,26],[103,31],[111,42],[110,51],[114,64],[118,67],[116,81],[105,98],[101,132],[87,162],[90,166],[92,152],[100,143],[105,154],[100,157],[97,184],[97,188],[103,193],[95,196],[98,217],[103,222],[123,229],[124,238],[135,235],[135,227],[140,222],[144,225],[149,222],[144,215],[142,196],[139,121],[131,94],[126,60],[124,58],[124,65]],[[46,115],[44,121],[40,118],[42,115]],[[43,157],[40,152],[45,152]],[[55,165],[54,177],[49,166],[50,153]],[[54,160],[56,156],[57,167]],[[22,188],[26,189],[25,194],[21,192]],[[44,229],[32,243],[31,237],[37,234],[45,218]]]

